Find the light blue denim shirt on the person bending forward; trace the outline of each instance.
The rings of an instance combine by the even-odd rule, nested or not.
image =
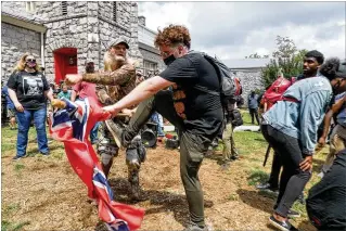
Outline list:
[[[292,85],[284,98],[297,100],[278,101],[264,118],[279,131],[297,138],[305,154],[312,154],[317,143],[317,131],[333,95],[330,81],[322,76],[302,79]]]

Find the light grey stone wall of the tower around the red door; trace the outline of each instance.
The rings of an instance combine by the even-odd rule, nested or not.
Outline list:
[[[92,60],[95,68],[103,68],[103,55],[111,39],[124,36],[129,40],[129,55],[141,57],[138,49],[137,4],[115,2],[116,21],[111,1],[67,1],[67,14],[63,15],[62,2],[40,2],[37,14],[44,18],[46,75],[54,79],[53,52],[64,47],[77,48],[78,72],[85,70],[86,60]],[[133,5],[134,4],[134,5]]]

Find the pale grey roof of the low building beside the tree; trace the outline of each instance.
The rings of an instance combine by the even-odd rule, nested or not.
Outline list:
[[[222,62],[231,69],[249,69],[265,67],[270,59],[228,59]]]

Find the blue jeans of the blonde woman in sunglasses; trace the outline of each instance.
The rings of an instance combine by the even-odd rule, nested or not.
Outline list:
[[[46,106],[39,110],[24,110],[23,113],[16,112],[16,117],[18,123],[16,155],[18,157],[26,155],[28,131],[30,128],[31,118],[34,118],[34,124],[36,127],[38,149],[40,153],[47,154],[49,149],[46,133]]]

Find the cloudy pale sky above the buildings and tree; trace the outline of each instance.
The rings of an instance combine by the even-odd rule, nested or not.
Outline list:
[[[222,60],[271,55],[277,36],[325,57],[346,57],[345,2],[140,2],[139,15],[154,31],[187,26],[193,50]]]

